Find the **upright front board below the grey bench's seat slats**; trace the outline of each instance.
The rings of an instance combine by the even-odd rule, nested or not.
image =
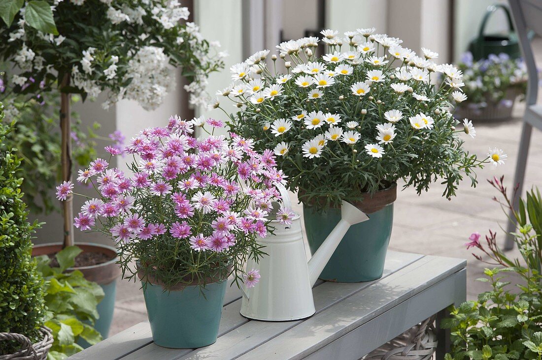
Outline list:
[[[453,299],[457,303],[463,302],[464,296],[460,298],[461,293],[466,291],[466,283],[467,270],[463,269],[318,349],[305,359],[357,360],[395,338],[398,333],[420,323],[420,319],[428,317],[427,314],[445,309],[454,302]],[[437,354],[437,359],[443,357],[444,354]]]

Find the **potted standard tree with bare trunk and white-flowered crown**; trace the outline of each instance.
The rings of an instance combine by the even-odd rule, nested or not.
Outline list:
[[[107,91],[105,107],[119,99],[138,101],[154,109],[172,86],[170,66],[180,67],[190,82],[190,103],[207,103],[207,76],[222,67],[220,56],[184,22],[189,11],[178,2],[146,1],[8,1],[0,17],[0,56],[15,65],[17,93],[46,96],[60,93],[60,136],[63,184],[72,180],[70,94],[95,97]],[[63,202],[63,243],[36,250],[52,254],[74,245],[72,198]],[[76,267],[104,286],[100,319],[107,337],[113,315],[118,266],[115,249],[78,244],[83,253]],[[89,259],[81,263],[79,260]]]

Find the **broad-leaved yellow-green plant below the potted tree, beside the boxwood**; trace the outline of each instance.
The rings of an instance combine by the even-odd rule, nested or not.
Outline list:
[[[63,359],[82,350],[77,344],[80,338],[89,344],[101,341],[101,335],[93,328],[98,319],[96,305],[104,298],[100,285],[89,282],[79,270],[67,272],[81,252],[76,246],[64,248],[56,254],[59,267],[51,267],[47,256],[37,257],[38,271],[46,279],[47,316],[45,325],[53,330],[54,343],[49,360]]]

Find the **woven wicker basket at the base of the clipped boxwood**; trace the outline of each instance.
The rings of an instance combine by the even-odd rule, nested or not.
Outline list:
[[[43,326],[40,329],[43,334],[43,338],[37,343],[33,344],[30,339],[24,335],[0,332],[0,341],[3,340],[15,340],[22,344],[21,350],[14,354],[0,355],[0,360],[45,360],[49,349],[53,345],[53,334],[49,328]]]

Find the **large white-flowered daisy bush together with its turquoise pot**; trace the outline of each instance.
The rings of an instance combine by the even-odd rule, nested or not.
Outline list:
[[[219,91],[240,108],[230,128],[257,139],[255,149],[274,148],[278,167],[298,191],[311,252],[337,224],[341,200],[356,204],[370,220],[346,233],[322,279],[360,282],[382,276],[390,239],[397,181],[427,190],[441,178],[443,195],[455,195],[463,176],[501,161],[494,149],[478,159],[463,149],[461,133],[472,123],[451,115],[448,96],[462,99],[462,73],[424,49],[422,57],[402,41],[373,34],[324,30],[327,54],[314,55],[317,37],[278,45],[285,74],[266,66],[269,50],[231,67],[234,83]],[[435,86],[436,72],[445,80]],[[220,103],[215,104],[220,107]]]

